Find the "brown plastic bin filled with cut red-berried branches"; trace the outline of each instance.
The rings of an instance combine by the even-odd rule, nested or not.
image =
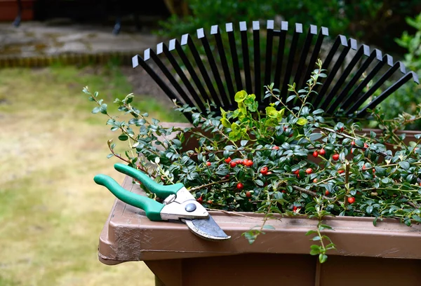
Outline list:
[[[123,187],[144,194],[129,177]],[[151,222],[142,210],[116,200],[100,235],[99,259],[108,265],[145,261],[156,285],[166,286],[421,285],[420,225],[385,219],[373,226],[373,218],[328,217],[334,230],[326,233],[338,251],[319,264],[305,236],[316,228],[314,219],[270,219],[274,230],[250,245],[241,234],[260,226],[262,214],[210,214],[231,239],[203,240],[181,222]]]

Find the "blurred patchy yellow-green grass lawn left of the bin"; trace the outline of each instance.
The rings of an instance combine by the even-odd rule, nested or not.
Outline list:
[[[98,261],[114,196],[93,177],[123,175],[106,158],[107,139],[118,134],[91,114],[83,86],[109,105],[132,92],[119,67],[0,69],[1,286],[154,285],[143,262]],[[171,107],[139,98],[151,117],[182,121]]]

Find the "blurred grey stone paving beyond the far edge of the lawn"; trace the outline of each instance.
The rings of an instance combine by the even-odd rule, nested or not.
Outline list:
[[[22,22],[20,27],[0,23],[0,59],[48,57],[63,54],[142,53],[159,41],[142,32],[112,34],[112,27],[95,25],[52,25]]]

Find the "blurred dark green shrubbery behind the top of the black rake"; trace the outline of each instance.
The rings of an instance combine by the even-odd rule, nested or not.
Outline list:
[[[186,0],[191,15],[173,15],[161,22],[161,36],[195,34],[196,29],[227,22],[274,19],[280,15],[290,23],[328,27],[330,34],[346,34],[364,43],[393,50],[390,45],[405,29],[406,16],[421,8],[413,0]],[[225,27],[222,27],[225,29]],[[387,50],[388,49],[388,50]]]

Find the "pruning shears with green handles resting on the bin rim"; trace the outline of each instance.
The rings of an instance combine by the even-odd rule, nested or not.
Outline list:
[[[114,168],[125,175],[138,179],[149,191],[164,199],[163,203],[159,203],[152,198],[127,191],[107,175],[100,174],[93,178],[95,183],[107,187],[119,200],[145,210],[148,219],[156,222],[171,220],[185,222],[196,236],[207,240],[230,238],[220,229],[208,211],[194,199],[184,184],[161,185],[144,172],[120,163],[116,163]]]

